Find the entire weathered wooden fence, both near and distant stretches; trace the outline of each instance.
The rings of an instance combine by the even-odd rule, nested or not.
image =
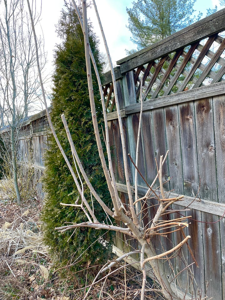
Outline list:
[[[163,176],[168,181],[166,190],[171,195],[184,194],[184,201],[175,209],[192,208],[182,212],[192,215],[187,234],[190,247],[199,268],[192,265],[197,285],[215,300],[225,299],[225,10],[196,22],[175,34],[131,56],[118,61],[115,68],[120,112],[126,137],[127,153],[135,161],[138,123],[140,115],[140,82],[143,78],[143,120],[140,143],[139,170],[148,183],[156,175],[160,155],[169,150]],[[103,84],[108,127],[113,153],[113,167],[118,191],[124,203],[127,187],[123,170],[123,156],[118,130],[117,113],[111,74],[105,74]],[[34,167],[42,174],[42,152],[46,147],[46,118],[30,119],[21,134],[20,149],[27,161],[26,149],[32,143]],[[39,126],[39,125],[40,126]],[[37,127],[37,129],[36,129]],[[40,128],[39,128],[40,127]],[[27,129],[26,129],[27,128]],[[27,130],[27,131],[26,131]],[[134,184],[134,167],[129,162],[130,180]],[[38,175],[38,176],[39,176]],[[147,188],[138,177],[139,195]],[[197,195],[197,197],[196,197]],[[155,200],[149,200],[157,204]],[[151,204],[151,203],[148,203]],[[143,219],[151,221],[153,208]],[[180,217],[173,213],[173,218]],[[170,216],[172,218],[172,216]],[[169,249],[183,237],[180,232],[156,238],[158,251]],[[123,249],[124,237],[117,237],[117,246]],[[177,275],[176,282],[188,288],[192,278],[181,272],[193,259],[187,247],[182,251],[186,262],[177,253],[171,262],[174,272],[164,263],[168,278]]]

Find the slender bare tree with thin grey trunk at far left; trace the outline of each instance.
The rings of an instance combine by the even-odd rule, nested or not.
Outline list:
[[[17,202],[21,196],[17,180],[16,149],[20,128],[40,98],[40,83],[36,67],[32,27],[23,0],[3,0],[0,4],[0,125],[8,125],[10,143],[1,149],[11,164]],[[40,14],[33,12],[37,23]],[[42,39],[38,40],[41,69],[45,65]],[[40,100],[40,99],[39,99]],[[4,137],[2,136],[4,142]],[[5,150],[5,151],[4,151]]]

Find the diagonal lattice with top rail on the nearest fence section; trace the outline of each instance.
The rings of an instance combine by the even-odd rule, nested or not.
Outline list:
[[[223,81],[225,80],[224,24],[223,9],[137,54],[120,60],[118,63],[121,65],[117,71],[121,73],[133,71],[137,102],[140,101],[142,78],[144,100]],[[172,47],[173,45],[178,47]],[[157,56],[157,53],[161,55]],[[109,81],[103,91],[107,111],[113,112],[115,110],[113,85]]]

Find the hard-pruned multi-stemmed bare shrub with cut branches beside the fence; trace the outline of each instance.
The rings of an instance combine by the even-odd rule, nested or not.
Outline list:
[[[187,240],[190,238],[190,236],[185,236],[183,228],[188,227],[188,223],[186,221],[186,218],[188,217],[180,217],[177,219],[173,219],[170,221],[163,221],[161,219],[162,215],[167,213],[167,209],[168,207],[175,203],[176,201],[182,200],[183,196],[179,196],[176,198],[169,198],[167,196],[167,193],[164,192],[163,189],[163,181],[162,181],[162,166],[163,163],[166,161],[167,159],[167,154],[165,155],[165,157],[163,158],[163,156],[160,157],[160,162],[159,162],[159,166],[157,166],[157,175],[156,178],[154,180],[154,182],[149,185],[149,189],[148,192],[146,193],[146,195],[142,198],[138,198],[138,192],[137,192],[137,175],[135,176],[136,178],[136,182],[135,182],[135,199],[133,199],[133,195],[131,192],[131,184],[129,181],[129,176],[128,176],[128,162],[127,162],[127,155],[128,153],[126,152],[126,147],[125,147],[125,139],[124,139],[124,134],[123,134],[123,125],[122,125],[122,119],[121,119],[121,115],[120,115],[120,109],[119,109],[119,105],[118,105],[118,96],[117,96],[117,89],[116,89],[116,81],[115,81],[115,75],[114,75],[114,71],[113,71],[113,65],[109,56],[109,51],[108,51],[108,47],[107,47],[107,43],[106,43],[106,39],[105,36],[103,34],[103,39],[106,45],[106,52],[108,55],[108,59],[109,59],[109,64],[110,64],[110,68],[111,68],[111,73],[112,73],[112,78],[113,78],[113,85],[114,85],[114,94],[115,94],[115,103],[116,103],[116,107],[117,107],[117,113],[118,113],[118,122],[119,122],[119,129],[120,129],[120,137],[121,137],[121,143],[122,143],[122,150],[123,150],[123,162],[124,162],[124,171],[125,171],[125,177],[126,177],[126,184],[127,184],[127,191],[128,191],[128,198],[129,198],[129,203],[127,206],[125,206],[119,195],[118,195],[118,191],[117,191],[117,187],[116,187],[116,181],[114,178],[114,173],[113,173],[113,166],[112,166],[112,158],[111,158],[111,154],[110,154],[110,146],[109,146],[109,134],[108,134],[108,125],[107,125],[107,115],[106,115],[106,109],[105,109],[105,103],[104,103],[104,97],[103,97],[103,90],[102,90],[102,86],[101,86],[101,81],[100,81],[100,77],[98,75],[98,71],[96,68],[96,64],[93,58],[93,54],[91,52],[91,49],[89,47],[89,41],[88,41],[88,21],[87,21],[87,10],[86,10],[86,1],[83,0],[82,2],[82,9],[83,9],[83,18],[80,16],[79,14],[79,10],[78,7],[75,3],[74,0],[72,0],[74,7],[76,9],[76,12],[78,14],[78,18],[81,24],[81,27],[83,29],[83,34],[84,34],[84,40],[85,40],[85,57],[86,57],[86,65],[87,65],[87,78],[88,78],[88,88],[89,88],[89,96],[90,96],[90,104],[91,104],[91,111],[92,111],[92,119],[93,119],[93,126],[94,126],[94,130],[95,130],[95,136],[96,136],[96,141],[97,141],[97,145],[98,145],[98,152],[99,152],[99,156],[101,158],[101,163],[103,166],[103,170],[104,170],[104,174],[105,174],[105,178],[106,181],[108,183],[108,189],[111,195],[111,199],[112,199],[112,207],[108,207],[106,206],[106,204],[104,203],[104,199],[101,199],[100,196],[96,193],[96,191],[94,190],[94,188],[92,187],[90,181],[88,180],[88,176],[85,173],[85,170],[83,169],[82,163],[77,155],[76,149],[73,145],[73,141],[70,135],[70,132],[68,130],[68,126],[66,123],[66,120],[64,118],[64,115],[62,115],[62,120],[63,120],[63,124],[68,136],[68,140],[70,142],[70,146],[72,149],[72,153],[74,156],[74,163],[75,163],[75,167],[77,170],[77,174],[74,173],[73,168],[71,166],[71,164],[68,161],[68,158],[66,157],[63,148],[61,147],[58,138],[56,136],[56,133],[54,131],[54,128],[52,126],[52,122],[50,119],[50,115],[49,112],[47,111],[47,116],[49,118],[49,123],[51,126],[51,129],[53,131],[53,135],[58,143],[58,146],[63,154],[63,157],[66,160],[66,163],[68,165],[68,168],[70,169],[72,175],[73,175],[73,179],[74,182],[76,183],[77,189],[80,193],[80,200],[76,201],[76,203],[72,203],[69,205],[72,205],[74,207],[79,207],[79,209],[82,209],[85,212],[85,215],[87,217],[86,220],[83,220],[83,222],[78,223],[78,224],[71,224],[71,225],[65,225],[65,226],[61,226],[56,228],[56,230],[59,230],[60,232],[65,232],[67,230],[71,230],[71,229],[75,229],[77,227],[91,227],[93,228],[93,230],[98,230],[98,229],[107,229],[107,230],[113,230],[115,232],[122,232],[124,235],[128,235],[131,238],[136,239],[136,241],[138,242],[139,245],[139,249],[137,249],[134,252],[130,252],[127,254],[124,254],[125,256],[129,255],[129,254],[133,254],[133,253],[137,253],[140,252],[141,254],[141,260],[140,260],[140,265],[141,265],[141,269],[143,270],[143,284],[142,284],[142,290],[141,290],[141,299],[144,299],[144,294],[145,294],[145,283],[146,283],[146,270],[145,270],[145,265],[147,262],[150,263],[152,270],[154,272],[155,277],[157,278],[158,282],[161,285],[161,289],[163,292],[163,295],[166,299],[181,299],[181,296],[179,296],[179,294],[176,294],[170,285],[170,282],[168,281],[168,278],[166,277],[166,274],[164,272],[163,269],[163,262],[162,262],[162,258],[168,259],[168,255],[177,251],[178,249],[180,249],[185,243],[187,243]],[[27,0],[27,3],[29,5],[29,0]],[[98,16],[98,11],[96,8],[96,4],[95,1],[93,0],[93,4],[97,13],[97,17],[99,19]],[[32,20],[32,12],[30,10],[30,17]],[[103,28],[101,26],[101,22],[99,19],[99,24],[101,27],[101,31],[103,32]],[[32,24],[32,26],[34,26]],[[35,30],[33,27],[33,33],[35,36]],[[37,43],[36,43],[36,50],[37,50]],[[94,104],[94,97],[93,97],[93,86],[92,86],[92,75],[91,75],[91,63],[90,63],[90,58],[92,59],[93,62],[93,66],[95,68],[96,74],[97,74],[97,78],[98,78],[98,84],[99,84],[99,91],[101,94],[101,101],[102,101],[102,107],[103,107],[103,116],[104,116],[104,121],[105,121],[105,139],[106,139],[106,146],[107,146],[107,158],[108,158],[108,162],[106,163],[105,161],[105,157],[104,157],[104,153],[103,153],[103,147],[101,144],[101,140],[100,140],[100,136],[99,136],[99,128],[98,128],[98,120],[96,117],[96,111],[95,111],[95,104]],[[38,64],[38,56],[37,56],[37,65]],[[41,70],[39,68],[39,74],[40,74],[40,81],[41,81]],[[42,92],[43,92],[43,98],[45,99],[44,96],[44,88],[42,85]],[[46,109],[47,109],[47,105],[46,105]],[[140,135],[140,127],[141,127],[141,118],[140,118],[140,124],[139,124],[139,130],[138,130],[138,136]],[[139,138],[138,138],[139,139]],[[139,142],[138,142],[139,143]],[[137,144],[138,144],[137,143]],[[108,165],[108,167],[107,167]],[[136,163],[134,163],[135,168],[136,168],[136,173],[138,172],[138,146],[137,146],[137,152],[136,152]],[[155,184],[156,180],[158,179],[160,186],[157,189],[157,192],[153,189],[153,185]],[[117,221],[117,223],[121,222],[123,224],[123,226],[115,226],[113,225],[113,223],[109,222],[109,224],[105,224],[102,220],[98,219],[98,216],[95,215],[94,212],[94,207],[91,208],[90,205],[88,204],[88,200],[84,197],[83,192],[82,192],[82,186],[83,183],[86,183],[87,186],[90,189],[91,194],[93,195],[93,197],[96,198],[96,200],[99,202],[99,204],[102,206],[102,208],[104,209],[106,215],[110,216],[111,218],[113,218],[115,221]],[[144,208],[143,208],[143,203],[148,202],[148,199],[154,197],[157,201],[158,201],[158,209],[153,217],[153,219],[151,220],[151,222],[147,225],[147,226],[143,226],[143,223],[141,222],[141,218],[140,216],[142,216],[143,214],[145,214],[144,212]],[[138,206],[138,203],[140,203],[140,205]],[[61,203],[62,205],[66,205]],[[68,205],[68,204],[67,204]],[[181,228],[181,229],[180,229]],[[180,243],[178,243],[177,245],[175,245],[172,249],[169,249],[166,252],[162,252],[160,254],[157,255],[156,253],[156,249],[154,247],[154,244],[152,242],[152,237],[156,234],[158,235],[162,235],[162,229],[163,232],[167,232],[167,233],[171,233],[174,232],[176,230],[181,230],[183,233],[183,241],[181,241]],[[114,264],[116,264],[118,261],[120,261],[121,259],[123,259],[125,256],[119,257],[117,260],[113,261],[113,262],[108,262],[105,266],[103,266],[103,268],[99,271],[99,273],[97,274],[96,278],[94,279],[92,285],[90,286],[88,292],[86,293],[84,299],[87,299],[90,290],[92,289],[93,285],[98,281],[98,276],[102,273],[105,272],[106,270],[110,269]],[[185,297],[185,296],[184,296]],[[183,296],[182,296],[183,298]]]

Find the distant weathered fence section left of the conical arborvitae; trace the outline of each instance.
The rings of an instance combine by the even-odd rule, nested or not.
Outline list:
[[[28,118],[19,132],[17,159],[34,169],[33,181],[37,194],[43,197],[40,179],[44,172],[43,154],[47,149],[47,134],[50,126],[43,110]]]

